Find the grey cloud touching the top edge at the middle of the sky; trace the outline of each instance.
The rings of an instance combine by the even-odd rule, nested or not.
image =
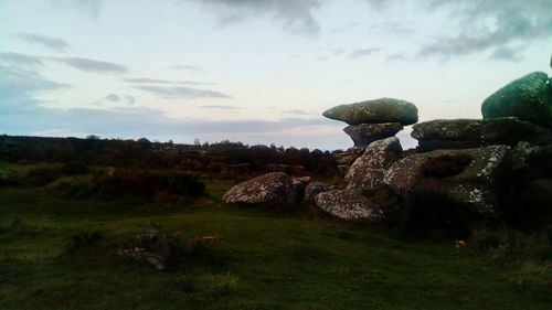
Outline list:
[[[314,12],[320,0],[188,0],[201,3],[215,12],[222,25],[251,17],[267,14],[283,23],[291,33],[318,34],[320,25]]]

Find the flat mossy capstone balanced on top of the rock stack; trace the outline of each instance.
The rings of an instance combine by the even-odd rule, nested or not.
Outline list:
[[[417,122],[416,106],[408,101],[393,98],[380,98],[357,104],[340,105],[323,111],[322,115],[349,125],[380,122],[412,125]]]

